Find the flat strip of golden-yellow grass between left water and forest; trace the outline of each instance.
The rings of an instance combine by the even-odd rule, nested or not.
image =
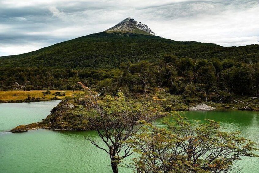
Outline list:
[[[0,100],[3,102],[10,102],[10,101],[18,101],[18,100],[24,100],[28,98],[28,95],[30,97],[35,97],[36,99],[39,98],[39,100],[51,100],[55,97],[55,92],[60,92],[63,94],[65,92],[66,96],[56,96],[58,99],[63,99],[65,97],[73,97],[74,94],[82,92],[82,91],[68,91],[68,90],[51,90],[50,94],[44,94],[42,92],[46,92],[46,90],[33,90],[33,91],[20,91],[20,90],[12,90],[12,91],[0,91]],[[54,95],[53,95],[54,94]]]

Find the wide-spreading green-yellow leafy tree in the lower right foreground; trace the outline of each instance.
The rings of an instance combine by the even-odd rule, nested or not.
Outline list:
[[[129,141],[139,157],[129,167],[137,172],[227,173],[238,172],[235,161],[254,157],[255,143],[239,132],[223,132],[218,122],[190,123],[175,116],[167,128],[148,126]],[[257,156],[258,157],[258,156]]]

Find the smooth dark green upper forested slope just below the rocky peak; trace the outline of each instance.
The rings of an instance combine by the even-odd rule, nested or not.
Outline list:
[[[221,47],[212,43],[179,42],[135,33],[96,33],[21,55],[0,57],[0,67],[114,68],[122,62],[150,62],[164,55],[192,59],[235,59],[257,62],[259,46]]]

